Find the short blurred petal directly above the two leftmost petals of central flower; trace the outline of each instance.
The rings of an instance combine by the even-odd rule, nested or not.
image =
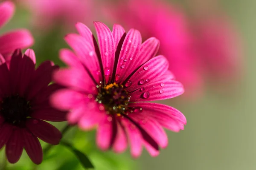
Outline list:
[[[70,67],[83,68],[79,58],[70,49],[61,49],[60,59]]]

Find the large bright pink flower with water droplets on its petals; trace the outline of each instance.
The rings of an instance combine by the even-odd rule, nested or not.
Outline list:
[[[79,34],[68,34],[66,42],[75,51],[60,52],[69,66],[56,71],[53,79],[67,88],[52,95],[52,104],[69,111],[70,124],[82,130],[97,126],[96,143],[102,150],[117,153],[131,145],[131,154],[140,156],[143,146],[151,156],[166,147],[163,127],[178,132],[185,116],[167,105],[149,103],[183,93],[183,86],[168,71],[169,62],[157,54],[159,41],[151,37],[142,43],[140,32],[125,33],[120,25],[113,31],[94,22],[99,46],[92,32],[77,23]]]

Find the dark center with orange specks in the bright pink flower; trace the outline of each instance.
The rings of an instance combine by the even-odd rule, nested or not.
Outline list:
[[[117,114],[118,116],[125,113],[130,96],[128,96],[128,92],[123,88],[123,85],[113,83],[105,86],[98,85],[97,88],[99,88],[99,93],[96,101],[105,106],[107,113]]]

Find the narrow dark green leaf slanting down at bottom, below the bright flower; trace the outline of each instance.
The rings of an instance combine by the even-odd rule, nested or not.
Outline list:
[[[60,144],[62,144],[63,146],[69,148],[76,155],[76,157],[79,159],[81,165],[85,169],[90,169],[90,168],[94,169],[93,164],[90,162],[90,160],[88,159],[88,157],[84,153],[82,153],[81,151],[77,150],[75,147],[73,147],[70,143],[68,143],[66,141],[61,141]]]

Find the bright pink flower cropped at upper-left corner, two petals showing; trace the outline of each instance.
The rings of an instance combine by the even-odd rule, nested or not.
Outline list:
[[[0,27],[7,23],[14,14],[15,6],[11,1],[0,3]],[[30,32],[26,29],[18,29],[0,36],[0,54],[5,58],[17,48],[27,48],[34,43]],[[10,58],[7,58],[9,61]]]

